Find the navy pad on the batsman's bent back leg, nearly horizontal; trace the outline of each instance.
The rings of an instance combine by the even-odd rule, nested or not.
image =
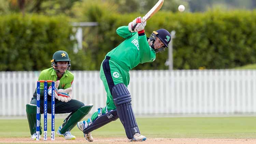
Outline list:
[[[99,108],[98,109],[98,117],[92,123],[90,122],[90,118],[88,119],[89,126],[83,131],[85,134],[98,129],[98,128],[110,123],[111,121],[118,119],[116,110],[112,110],[103,115],[101,115],[101,112],[102,112],[101,108]]]

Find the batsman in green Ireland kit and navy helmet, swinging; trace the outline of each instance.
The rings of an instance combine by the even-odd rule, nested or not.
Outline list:
[[[77,123],[89,142],[93,141],[91,131],[118,118],[130,141],[146,140],[140,133],[132,110],[131,95],[127,89],[130,82],[129,71],[140,63],[153,62],[156,53],[165,51],[168,47],[171,35],[167,30],[159,29],[147,38],[145,26],[146,21],[137,17],[128,26],[116,30],[126,40],[106,54],[100,67],[100,78],[107,93],[106,106],[99,108],[88,120]],[[140,96],[134,96],[136,97]]]

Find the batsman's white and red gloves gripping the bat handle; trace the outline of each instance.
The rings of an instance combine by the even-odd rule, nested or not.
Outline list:
[[[147,21],[142,22],[141,17],[135,18],[132,22],[129,23],[128,29],[130,32],[138,32],[144,30]]]

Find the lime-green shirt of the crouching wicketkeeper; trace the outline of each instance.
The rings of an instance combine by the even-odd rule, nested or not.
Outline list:
[[[57,81],[57,74],[56,71],[53,68],[45,69],[43,70],[39,77],[38,81],[40,80],[52,80],[52,81]],[[62,77],[60,78],[60,84],[58,89],[66,89],[71,87],[72,82],[74,80],[74,75],[70,71],[67,71],[66,74],[63,74]],[[51,83],[48,83],[48,87],[51,86]],[[40,89],[44,89],[44,83],[40,84]]]

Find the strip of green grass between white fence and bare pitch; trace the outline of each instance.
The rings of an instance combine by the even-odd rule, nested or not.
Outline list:
[[[55,126],[62,124],[63,119],[56,119]],[[51,124],[48,119],[48,136],[51,135]],[[163,117],[137,118],[140,131],[148,138],[231,138],[256,139],[256,117]],[[27,119],[0,119],[0,138],[30,137]],[[55,130],[56,133],[56,130]],[[76,137],[83,133],[77,128],[71,131]],[[125,138],[125,132],[119,120],[105,125],[95,131],[93,136],[99,138]]]

